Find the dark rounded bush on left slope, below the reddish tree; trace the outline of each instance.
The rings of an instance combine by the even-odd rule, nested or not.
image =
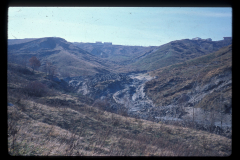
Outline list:
[[[30,82],[27,84],[23,91],[29,96],[42,97],[48,93],[48,88],[46,85],[39,81]]]

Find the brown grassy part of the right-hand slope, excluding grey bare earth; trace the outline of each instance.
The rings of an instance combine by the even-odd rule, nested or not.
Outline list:
[[[172,99],[191,91],[198,73],[197,83],[203,86],[212,77],[231,71],[231,68],[232,46],[230,45],[217,52],[151,72],[152,76],[158,76],[158,78],[147,82],[147,95],[157,105],[168,105]],[[222,92],[225,99],[231,99],[231,87],[225,88]],[[218,94],[213,92],[211,96],[206,96],[198,107],[209,106],[207,104],[218,97]]]

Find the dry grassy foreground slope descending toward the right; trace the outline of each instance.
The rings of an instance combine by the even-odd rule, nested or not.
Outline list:
[[[43,97],[25,95],[21,92],[24,84],[41,81],[44,73],[26,75],[15,69],[8,68],[8,102],[14,104],[8,106],[11,155],[231,154],[231,139],[223,136],[116,115],[83,103],[84,97],[61,90]]]

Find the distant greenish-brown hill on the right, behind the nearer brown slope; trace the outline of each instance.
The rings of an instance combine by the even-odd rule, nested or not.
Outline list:
[[[159,46],[157,51],[146,56],[136,57],[128,67],[139,70],[155,70],[212,53],[231,43],[231,40],[176,40]]]

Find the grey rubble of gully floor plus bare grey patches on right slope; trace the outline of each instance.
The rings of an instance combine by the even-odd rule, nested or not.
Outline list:
[[[219,92],[232,84],[231,72],[225,72],[211,78],[208,82],[188,86],[183,86],[180,91],[191,89],[192,92],[186,92],[175,97],[169,104],[164,106],[156,106],[151,99],[146,96],[145,84],[153,79],[146,73],[130,73],[130,74],[96,74],[88,77],[68,78],[69,85],[73,86],[79,93],[90,96],[94,99],[107,98],[110,106],[106,110],[120,113],[122,107],[127,109],[127,113],[132,117],[140,117],[142,119],[162,121],[164,123],[180,122],[184,126],[188,126],[192,122],[193,107],[195,107],[205,96]],[[168,85],[174,85],[175,80],[170,79]],[[160,86],[161,88],[161,86]],[[178,90],[179,91],[179,90]],[[176,92],[178,92],[176,91]],[[179,91],[179,92],[180,92]],[[231,112],[231,102],[225,100],[225,112]],[[225,136],[231,135],[231,116],[223,115],[222,128],[219,129],[220,113],[215,113],[214,123],[211,122],[211,112],[201,108],[194,108],[196,127],[201,130],[210,131],[209,127],[216,134]]]

